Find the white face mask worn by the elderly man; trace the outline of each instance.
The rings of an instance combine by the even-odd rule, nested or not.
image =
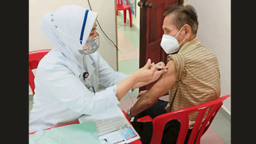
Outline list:
[[[183,26],[181,27],[181,29],[183,28]],[[177,35],[179,35],[180,31],[175,35],[175,37],[177,37]],[[171,36],[171,35],[165,35],[163,34],[163,37],[161,38],[161,47],[163,48],[163,50],[165,51],[166,54],[172,54],[173,52],[177,52],[179,50],[180,45],[185,41],[185,39],[183,39],[183,41],[181,42],[181,44],[179,44],[179,42],[177,41],[177,39]]]

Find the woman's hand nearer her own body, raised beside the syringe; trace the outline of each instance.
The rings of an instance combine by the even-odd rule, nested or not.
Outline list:
[[[134,75],[137,77],[137,82],[148,82],[148,81],[152,81],[155,71],[156,71],[156,67],[154,62],[152,63],[152,66],[151,66],[151,60],[148,59],[148,62],[146,62],[146,65],[138,69],[134,73]]]

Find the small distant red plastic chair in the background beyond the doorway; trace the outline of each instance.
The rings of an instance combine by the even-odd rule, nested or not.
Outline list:
[[[116,0],[116,15],[118,16],[118,10],[123,10],[123,22],[126,23],[126,10],[129,11],[130,27],[132,27],[131,18],[131,7],[128,5],[128,0],[126,0],[126,5],[123,5],[123,0]]]

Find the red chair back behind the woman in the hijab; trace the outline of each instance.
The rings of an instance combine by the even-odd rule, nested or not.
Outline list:
[[[36,69],[39,61],[47,54],[51,49],[45,49],[45,50],[35,50],[32,52],[29,52],[29,62],[28,62],[28,83],[30,84],[30,88],[32,89],[33,94],[35,94],[35,82],[33,79],[35,79],[35,75],[33,75],[32,69]]]

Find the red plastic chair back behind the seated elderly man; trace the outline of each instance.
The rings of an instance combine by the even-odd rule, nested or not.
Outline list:
[[[223,96],[221,98],[215,99],[213,101],[209,101],[207,103],[203,103],[201,105],[195,105],[192,107],[179,109],[177,111],[172,111],[170,113],[165,113],[163,115],[160,115],[154,118],[153,119],[153,135],[150,143],[160,144],[161,137],[163,134],[163,128],[165,124],[170,120],[174,120],[174,119],[177,119],[181,122],[177,143],[178,144],[184,143],[184,139],[186,138],[186,134],[188,132],[188,126],[189,126],[188,115],[196,111],[198,111],[198,116],[196,117],[196,122],[194,124],[194,127],[192,128],[192,132],[190,133],[188,144],[200,143],[200,139],[202,135],[207,131],[207,129],[211,125],[211,122],[215,118],[215,115],[218,113],[219,109],[221,108],[221,105],[223,105],[224,99],[228,97],[230,97],[230,95]],[[205,120],[202,123],[203,117],[205,116],[205,112],[207,111],[207,109],[209,109],[209,113],[207,113],[207,116],[205,117]]]

